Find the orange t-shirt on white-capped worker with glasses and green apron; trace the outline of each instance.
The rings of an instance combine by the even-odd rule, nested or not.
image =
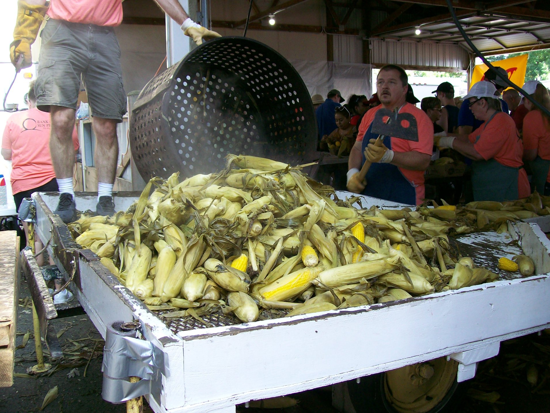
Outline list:
[[[513,168],[523,166],[521,160],[523,157],[523,143],[519,138],[514,119],[507,113],[497,112],[491,122],[487,124],[487,127],[485,127],[485,124],[486,122],[483,122],[468,136],[477,153],[486,161],[494,159],[499,164]],[[476,142],[478,136],[480,136],[480,139]],[[519,170],[518,192],[520,198],[525,198],[531,193],[527,173],[524,169]]]

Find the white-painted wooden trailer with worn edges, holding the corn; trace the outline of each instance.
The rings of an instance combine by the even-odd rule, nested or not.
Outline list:
[[[342,194],[340,194],[342,195]],[[351,194],[349,194],[351,195]],[[119,193],[117,209],[138,196]],[[81,210],[94,208],[95,194],[77,194]],[[169,327],[106,270],[97,256],[80,250],[52,210],[56,194],[36,193],[36,231],[52,237],[49,251],[71,275],[72,290],[105,336],[117,320],[139,320],[142,338],[163,355],[155,412],[235,412],[250,400],[287,395],[447,357],[458,381],[474,377],[477,362],[496,356],[500,341],[550,327],[550,242],[538,225],[510,224],[510,234],[476,233],[458,241],[463,255],[496,270],[499,256],[521,249],[536,275],[439,292],[398,302],[340,309],[254,323],[205,328]],[[365,199],[364,205],[397,204]],[[509,244],[518,241],[519,246]],[[466,252],[466,253],[465,253]],[[335,405],[344,406],[342,393]]]

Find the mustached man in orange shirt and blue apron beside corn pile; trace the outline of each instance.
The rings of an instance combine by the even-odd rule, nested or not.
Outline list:
[[[380,69],[376,93],[382,104],[372,108],[362,119],[349,154],[347,186],[351,192],[409,205],[422,203],[425,196],[424,171],[432,156],[433,125],[426,113],[406,102],[407,91],[408,79],[403,68],[388,64]],[[382,107],[411,113],[416,118],[418,142],[386,137],[382,146],[375,145],[378,135],[371,132],[371,125]],[[366,182],[361,182],[358,173],[366,160],[372,165]]]

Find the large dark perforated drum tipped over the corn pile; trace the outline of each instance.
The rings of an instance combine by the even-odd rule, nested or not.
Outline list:
[[[313,105],[298,72],[244,37],[208,41],[151,79],[130,127],[146,180],[213,172],[229,153],[298,165],[315,156],[316,141]]]

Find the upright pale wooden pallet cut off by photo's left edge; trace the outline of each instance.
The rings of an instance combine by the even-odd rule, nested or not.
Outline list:
[[[13,384],[15,322],[18,308],[19,237],[0,231],[0,387]]]

